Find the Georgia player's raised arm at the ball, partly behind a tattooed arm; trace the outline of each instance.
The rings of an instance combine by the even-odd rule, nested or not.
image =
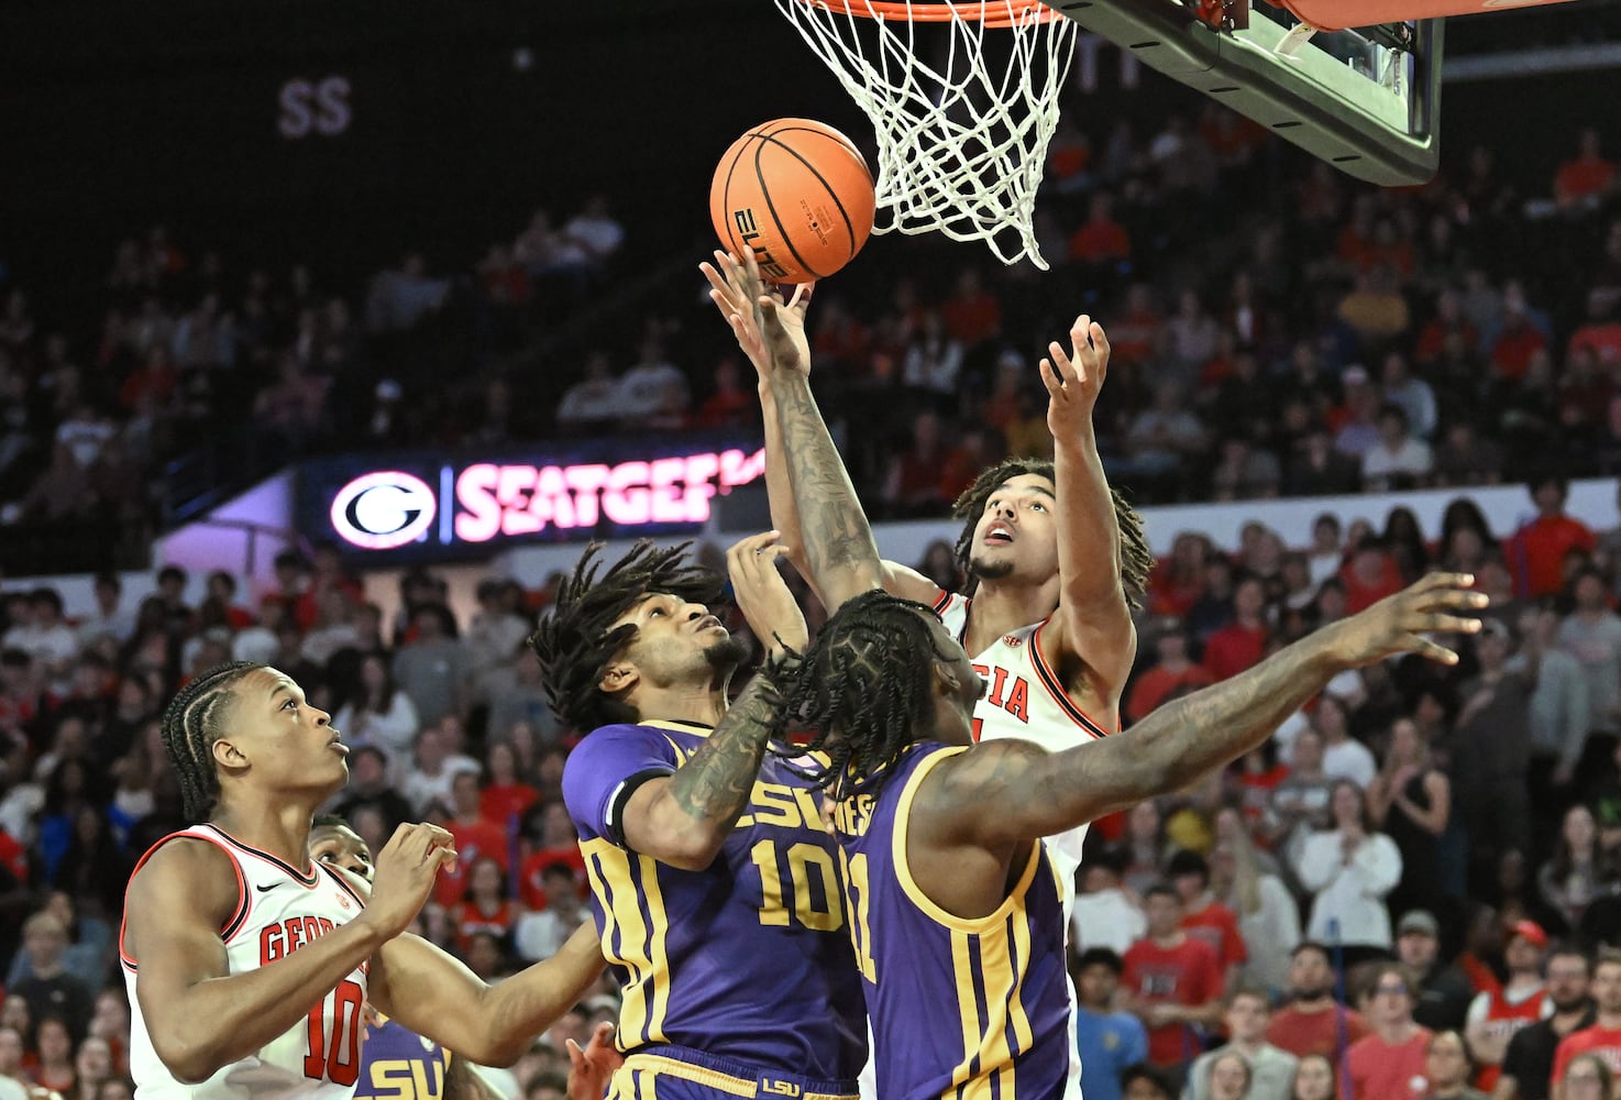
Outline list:
[[[755,279],[751,282],[749,268],[728,256],[725,251],[715,253],[715,264],[699,264],[704,277],[710,282],[710,300],[720,315],[731,326],[738,337],[738,347],[759,375],[760,414],[765,422],[765,493],[772,508],[772,526],[781,532],[788,545],[788,561],[806,578],[817,599],[827,604],[823,592],[817,587],[810,571],[810,563],[804,555],[804,535],[799,527],[799,506],[794,501],[793,483],[788,474],[788,456],[783,451],[783,432],[776,414],[776,396],[772,391],[772,357],[760,336],[759,313],[754,300],[765,294],[765,287]],[[815,289],[814,282],[794,287],[793,297],[776,308],[776,324],[781,337],[791,344],[791,357],[801,363],[806,375],[810,373],[810,342],[806,336],[806,308]],[[880,563],[882,584],[895,595],[932,604],[940,595],[940,587],[916,569],[895,561]]]

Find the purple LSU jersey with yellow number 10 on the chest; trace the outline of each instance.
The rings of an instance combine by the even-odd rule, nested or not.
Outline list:
[[[867,1058],[861,975],[845,931],[838,849],[817,795],[767,756],[726,845],[682,871],[624,845],[647,779],[704,745],[689,722],[605,725],[569,754],[562,797],[624,1004],[619,1050],[686,1046],[762,1069],[853,1079]]]

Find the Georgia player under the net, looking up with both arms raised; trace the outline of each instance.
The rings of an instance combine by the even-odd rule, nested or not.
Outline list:
[[[809,581],[804,537],[767,383],[770,368],[755,308],[759,277],[752,256],[747,268],[725,253],[715,253],[715,266],[702,264],[710,299],[760,373],[772,526],[781,532],[794,568]],[[791,344],[788,350],[806,370],[810,347],[804,318],[812,286],[798,287],[789,302],[773,307],[773,323],[780,324],[778,331]],[[1101,324],[1083,315],[1070,329],[1070,354],[1052,342],[1050,360],[1041,362],[1054,461],[1000,462],[982,472],[953,505],[953,516],[964,521],[956,560],[968,576],[968,591],[961,595],[945,592],[895,561],[883,563],[882,578],[888,592],[934,605],[974,667],[990,680],[990,690],[974,707],[976,738],[1015,737],[1049,753],[1120,727],[1120,693],[1136,660],[1131,608],[1153,566],[1141,519],[1109,488],[1093,430],[1093,406],[1109,370],[1109,337]],[[999,677],[1005,688],[1000,694]],[[1031,709],[1033,691],[1042,693],[1052,706],[1042,701]],[[1065,884],[1065,926],[1084,840],[1084,824],[1047,837],[1049,855]],[[1071,1016],[1073,995],[1070,990]],[[1075,1055],[1070,1100],[1080,1097],[1080,1055]],[[870,1081],[864,1077],[862,1084],[869,1087]],[[870,1095],[870,1089],[864,1095]]]

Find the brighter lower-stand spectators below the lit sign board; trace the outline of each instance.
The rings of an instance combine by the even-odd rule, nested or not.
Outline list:
[[[1443,1089],[1504,1072],[1503,1095],[1537,1100],[1566,1061],[1589,1072],[1555,1040],[1592,1012],[1582,1043],[1621,1053],[1603,1030],[1621,1024],[1621,962],[1603,954],[1621,946],[1621,531],[1568,516],[1558,479],[1530,492],[1517,531],[1459,496],[1435,532],[1396,506],[1383,531],[1324,514],[1310,547],[1261,524],[1237,547],[1177,537],[1140,617],[1127,724],[1436,565],[1473,571],[1493,608],[1449,639],[1456,667],[1345,673],[1224,774],[1093,827],[1071,930],[1089,1100],[1127,1069],[1127,1097],[1336,1095],[1302,1090],[1311,1056],[1347,1100],[1467,1095]],[[945,550],[917,565],[955,584]],[[185,824],[159,714],[227,659],[274,664],[334,714],[350,784],[327,810],[373,847],[400,821],[456,836],[420,931],[477,973],[543,959],[587,920],[561,798],[580,732],[550,712],[525,644],[550,586],[488,576],[459,617],[417,569],[386,617],[332,547],[284,553],[266,591],[203,581],[190,605],[191,578],[165,568],[130,607],[107,574],[71,620],[50,586],[0,602],[0,1090],[125,1095],[122,891]],[[613,1011],[593,993],[512,1095],[550,1095],[562,1042]]]

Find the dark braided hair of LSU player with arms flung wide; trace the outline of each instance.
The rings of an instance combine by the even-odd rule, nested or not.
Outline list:
[[[947,654],[929,618],[937,617],[927,604],[882,589],[840,607],[802,660],[778,677],[783,704],[772,753],[825,756],[827,766],[789,769],[835,798],[882,785],[900,754],[934,727],[934,662]]]

